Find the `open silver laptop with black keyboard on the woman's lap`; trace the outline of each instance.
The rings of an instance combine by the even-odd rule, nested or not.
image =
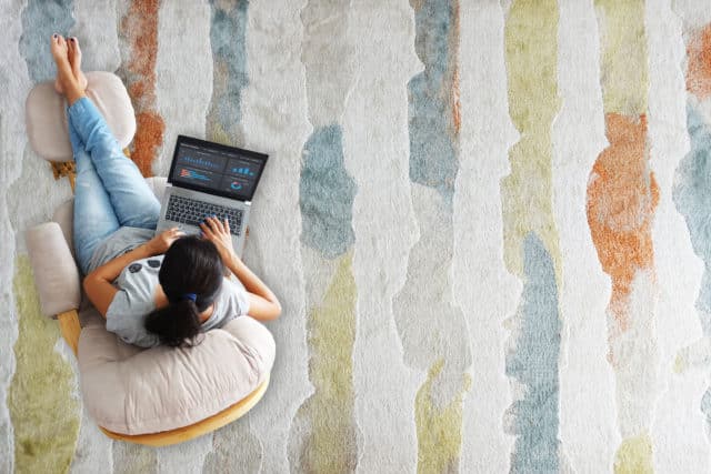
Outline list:
[[[244,230],[268,155],[178,135],[156,233],[180,228],[200,233],[206,216],[228,219],[232,246],[244,250]]]

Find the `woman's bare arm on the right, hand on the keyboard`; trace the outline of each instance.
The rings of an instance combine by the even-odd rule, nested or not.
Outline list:
[[[274,293],[234,253],[229,222],[214,218],[207,218],[206,222],[207,224],[200,224],[206,239],[216,244],[224,265],[234,273],[248,292],[249,315],[260,321],[279,317],[281,303]]]

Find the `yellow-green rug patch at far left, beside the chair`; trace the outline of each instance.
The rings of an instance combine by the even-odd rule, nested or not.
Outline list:
[[[79,403],[72,396],[77,380],[54,352],[59,325],[41,313],[28,255],[16,260],[12,289],[19,320],[17,367],[8,394],[14,472],[66,473],[79,437]]]

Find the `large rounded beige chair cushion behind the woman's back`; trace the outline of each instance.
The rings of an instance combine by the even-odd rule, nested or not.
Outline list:
[[[128,345],[91,324],[79,337],[84,405],[123,434],[157,433],[202,421],[244,399],[274,362],[271,333],[241,316],[188,349]]]

